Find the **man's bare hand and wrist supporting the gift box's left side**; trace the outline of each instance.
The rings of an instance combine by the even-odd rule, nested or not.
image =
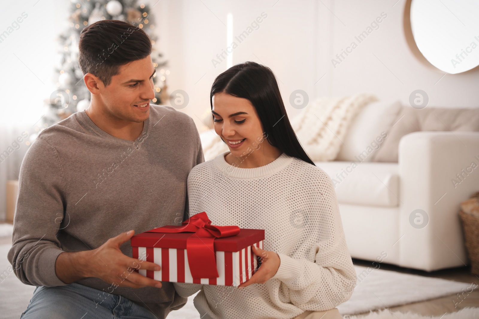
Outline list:
[[[161,287],[161,282],[135,272],[135,269],[158,271],[160,265],[130,258],[120,246],[131,239],[135,231],[110,238],[100,247],[77,253],[60,253],[55,264],[57,277],[66,284],[87,277],[96,277],[116,286],[141,288]]]

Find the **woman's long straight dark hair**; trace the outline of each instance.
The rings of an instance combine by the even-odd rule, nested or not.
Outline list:
[[[315,165],[299,143],[285,110],[273,71],[255,62],[245,62],[230,67],[218,75],[211,86],[210,104],[213,96],[225,93],[248,99],[256,108],[267,141],[286,155],[297,157]]]

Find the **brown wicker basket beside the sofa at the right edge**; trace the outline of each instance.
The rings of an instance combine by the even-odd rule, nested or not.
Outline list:
[[[459,211],[464,229],[466,249],[471,261],[471,273],[479,275],[479,218]]]

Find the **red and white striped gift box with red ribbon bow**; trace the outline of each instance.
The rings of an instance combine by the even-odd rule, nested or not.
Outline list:
[[[263,248],[264,230],[214,226],[205,212],[181,226],[164,226],[131,238],[133,258],[161,266],[140,275],[178,283],[238,286],[261,264],[251,246]]]

